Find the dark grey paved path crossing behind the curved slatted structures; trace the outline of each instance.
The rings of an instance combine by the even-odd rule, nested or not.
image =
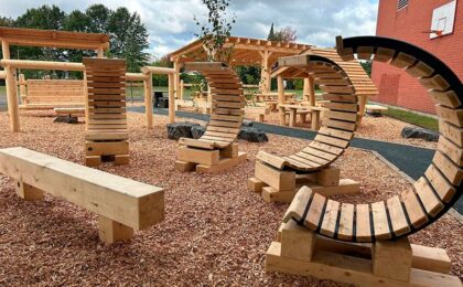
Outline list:
[[[129,110],[144,113],[144,107],[129,107]],[[168,110],[165,108],[155,108],[154,114],[168,115]],[[184,118],[194,118],[200,120],[208,120],[209,118],[208,115],[200,115],[187,111],[176,111],[176,116]],[[316,135],[315,131],[274,126],[262,123],[255,123],[254,127],[261,129],[268,134],[309,140],[313,139]],[[414,180],[418,180],[424,173],[426,169],[431,163],[432,157],[434,156],[433,149],[419,148],[373,139],[354,138],[351,146],[378,152],[380,156],[383,156],[389,162],[396,166],[400,171],[408,174]],[[463,214],[463,198],[461,198],[460,201],[454,205],[454,209],[459,211],[460,214]]]

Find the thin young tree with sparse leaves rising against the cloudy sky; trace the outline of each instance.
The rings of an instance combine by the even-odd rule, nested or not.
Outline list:
[[[203,0],[203,4],[207,7],[207,23],[201,23],[196,15],[193,18],[201,32],[195,33],[203,40],[204,47],[207,52],[208,61],[229,62],[233,47],[224,49],[225,41],[230,36],[232,25],[235,23],[235,14],[232,20],[227,19],[226,9],[229,7],[230,0]]]

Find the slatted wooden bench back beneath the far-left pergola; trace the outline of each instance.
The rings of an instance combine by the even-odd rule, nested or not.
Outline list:
[[[84,107],[85,91],[82,79],[28,79],[21,95],[21,109],[53,109]]]

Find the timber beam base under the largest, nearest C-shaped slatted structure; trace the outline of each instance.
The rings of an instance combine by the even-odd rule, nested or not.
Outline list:
[[[316,235],[294,221],[280,226],[266,253],[266,272],[357,286],[461,286],[457,277],[449,275],[450,258],[443,249],[413,245],[407,238],[343,243]]]

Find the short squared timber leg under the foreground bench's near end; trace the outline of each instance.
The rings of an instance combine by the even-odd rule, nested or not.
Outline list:
[[[98,236],[100,241],[108,244],[128,241],[133,236],[133,228],[98,215]]]

